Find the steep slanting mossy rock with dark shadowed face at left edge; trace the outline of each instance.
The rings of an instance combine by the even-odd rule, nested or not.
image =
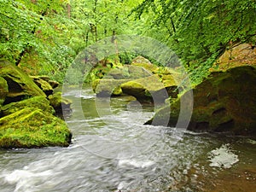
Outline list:
[[[5,79],[9,87],[5,103],[18,102],[30,96],[45,97],[44,91],[9,61],[0,61],[0,77]]]

